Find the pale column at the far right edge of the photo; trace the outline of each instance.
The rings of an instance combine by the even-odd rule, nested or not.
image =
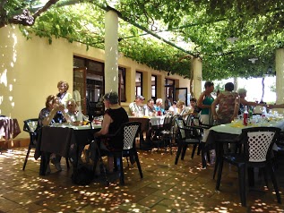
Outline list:
[[[276,50],[275,54],[276,69],[276,103],[284,103],[284,48]]]

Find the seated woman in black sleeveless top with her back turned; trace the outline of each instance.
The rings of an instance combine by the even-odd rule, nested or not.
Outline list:
[[[118,95],[116,92],[108,92],[104,96],[104,104],[107,108],[104,114],[104,119],[101,124],[101,130],[95,132],[95,138],[99,138],[106,134],[114,134],[119,130],[122,124],[129,122],[128,115],[125,109],[118,105]],[[112,173],[114,169],[114,158],[111,151],[122,148],[123,135],[117,135],[116,139],[105,139],[100,142],[100,149],[108,152],[108,172]],[[96,145],[96,144],[95,144]],[[94,156],[94,158],[98,158]],[[96,166],[96,175],[99,175],[99,166]]]

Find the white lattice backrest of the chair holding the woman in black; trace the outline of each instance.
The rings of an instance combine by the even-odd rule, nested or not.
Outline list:
[[[133,149],[136,135],[140,131],[141,122],[128,122],[122,125],[121,130],[124,135],[124,148]]]

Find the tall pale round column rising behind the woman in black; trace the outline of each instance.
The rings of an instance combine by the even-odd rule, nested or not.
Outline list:
[[[105,93],[118,93],[118,16],[115,11],[106,13],[105,30]]]

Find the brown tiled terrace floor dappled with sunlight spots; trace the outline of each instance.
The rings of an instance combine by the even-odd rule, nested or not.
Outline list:
[[[39,176],[39,160],[33,152],[22,171],[26,148],[10,149],[0,155],[0,212],[284,212],[277,203],[273,188],[263,181],[249,188],[247,207],[241,207],[238,196],[237,169],[224,166],[220,192],[215,192],[213,166],[201,169],[200,156],[174,165],[164,150],[139,150],[143,179],[136,165],[125,163],[125,186],[114,179],[107,187],[103,178],[88,186],[74,185],[72,169]],[[279,158],[277,173],[281,199],[284,202],[284,158]],[[260,179],[262,180],[262,178]]]

